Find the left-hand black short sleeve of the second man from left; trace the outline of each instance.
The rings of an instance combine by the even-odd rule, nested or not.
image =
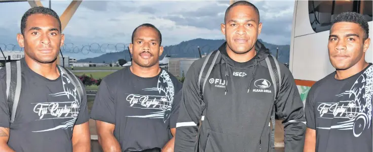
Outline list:
[[[96,94],[91,110],[91,118],[98,121],[115,124],[115,103],[106,79],[104,78]]]

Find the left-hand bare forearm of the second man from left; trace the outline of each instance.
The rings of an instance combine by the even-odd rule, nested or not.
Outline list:
[[[121,152],[121,145],[114,136],[114,124],[96,120],[98,143],[105,152]]]

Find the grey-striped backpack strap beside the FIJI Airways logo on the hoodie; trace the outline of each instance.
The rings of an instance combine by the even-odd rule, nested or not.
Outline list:
[[[214,50],[213,52],[209,53],[203,62],[200,75],[198,77],[198,84],[200,88],[200,94],[203,97],[203,92],[205,90],[206,79],[210,76],[210,73],[216,63],[216,59],[219,56],[219,50]],[[213,58],[211,58],[213,57]]]

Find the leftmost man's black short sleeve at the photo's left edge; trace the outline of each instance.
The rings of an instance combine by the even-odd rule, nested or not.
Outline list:
[[[7,102],[6,72],[0,70],[0,127],[10,128],[10,114]]]

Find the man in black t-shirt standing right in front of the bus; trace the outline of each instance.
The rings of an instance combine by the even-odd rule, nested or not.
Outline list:
[[[368,31],[367,21],[357,13],[342,13],[333,20],[328,50],[336,71],[308,93],[305,152],[372,151],[373,66],[365,61]]]

